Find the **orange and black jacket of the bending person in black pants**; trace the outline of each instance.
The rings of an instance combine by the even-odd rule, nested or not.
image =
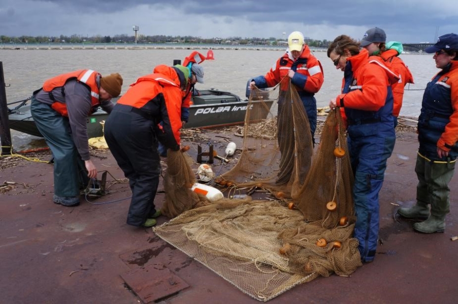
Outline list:
[[[157,124],[157,130],[164,133],[162,136],[170,137],[173,134],[176,144],[179,145],[182,126],[181,97],[177,72],[173,67],[162,64],[156,66],[152,74],[144,75],[130,85],[129,90],[119,98],[117,103],[142,109],[145,115],[151,113],[151,119]],[[157,108],[158,111],[151,111],[151,107]]]

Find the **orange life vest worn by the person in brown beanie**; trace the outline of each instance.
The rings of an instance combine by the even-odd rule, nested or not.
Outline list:
[[[62,88],[62,96],[64,96],[65,92],[64,92],[63,86],[69,80],[75,79],[78,82],[86,85],[88,89],[90,90],[91,108],[94,108],[100,105],[99,86],[97,86],[97,75],[100,75],[100,73],[94,70],[90,70],[90,69],[84,69],[84,70],[78,70],[78,71],[74,71],[70,73],[60,74],[54,78],[47,80],[43,84],[42,89],[43,91],[48,92],[49,97],[51,98],[51,100],[54,101],[51,107],[55,111],[60,113],[60,115],[64,117],[69,117],[69,112],[67,110],[66,103],[64,102],[64,100],[56,100],[54,98],[54,95],[52,94],[52,90],[54,90],[55,88]]]

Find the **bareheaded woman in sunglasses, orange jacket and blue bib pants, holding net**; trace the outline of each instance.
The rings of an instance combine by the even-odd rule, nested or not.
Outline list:
[[[360,49],[359,42],[347,35],[336,37],[328,48],[328,57],[344,72],[342,92],[329,106],[339,107],[346,121],[354,174],[353,237],[359,241],[362,261],[370,262],[377,248],[378,193],[396,139],[391,84],[399,78],[381,60],[369,57],[369,52]]]

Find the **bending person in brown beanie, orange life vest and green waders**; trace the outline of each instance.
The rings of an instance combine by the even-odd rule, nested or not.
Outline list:
[[[110,113],[111,98],[119,96],[121,86],[118,73],[102,77],[85,69],[58,75],[34,92],[31,115],[54,157],[54,203],[78,206],[80,188],[96,177],[89,155],[87,117],[99,105]]]

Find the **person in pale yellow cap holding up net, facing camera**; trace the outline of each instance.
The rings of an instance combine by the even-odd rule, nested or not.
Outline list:
[[[280,83],[284,77],[289,77],[291,84],[298,91],[309,119],[312,138],[316,130],[316,99],[314,97],[324,81],[321,63],[310,52],[305,44],[304,35],[293,31],[288,36],[288,49],[280,57],[269,72],[258,76],[250,82],[250,89],[271,88]],[[281,85],[281,90],[287,90],[289,83]],[[279,108],[279,111],[281,109]]]

